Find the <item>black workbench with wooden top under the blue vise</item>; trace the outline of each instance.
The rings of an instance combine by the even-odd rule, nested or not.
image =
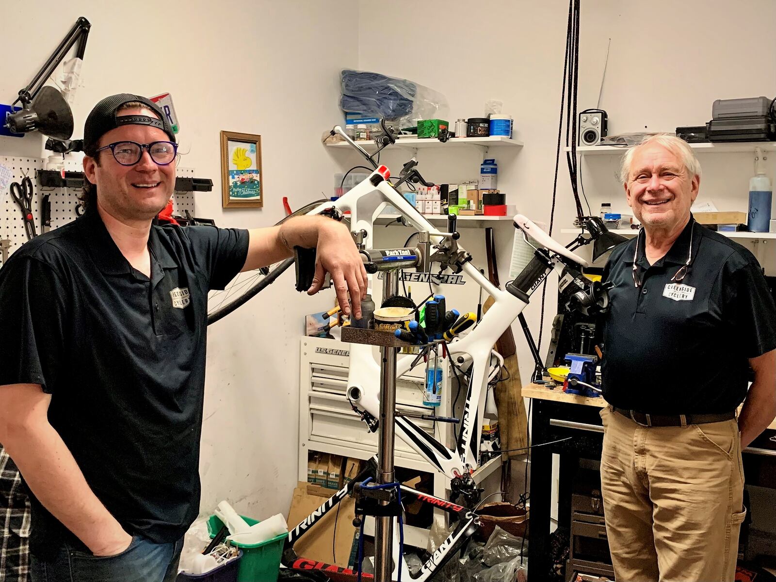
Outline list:
[[[558,525],[570,525],[571,485],[579,459],[601,459],[604,428],[599,413],[608,406],[602,397],[590,398],[566,394],[561,387],[550,390],[539,384],[523,387],[530,398],[532,445],[572,437],[568,441],[531,449],[530,507],[528,529],[528,582],[543,582],[549,577],[550,500],[552,492],[553,453],[560,456],[558,490]],[[770,470],[761,468],[761,459],[776,462],[776,421],[744,449],[744,472],[752,467],[758,484],[776,487]],[[750,478],[747,476],[747,483]]]

